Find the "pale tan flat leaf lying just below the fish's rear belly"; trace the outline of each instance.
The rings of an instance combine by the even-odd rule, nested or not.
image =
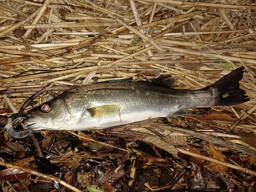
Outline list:
[[[179,152],[175,146],[163,141],[158,137],[147,136],[147,137],[144,137],[143,141],[153,143],[157,147],[173,155],[177,155]]]

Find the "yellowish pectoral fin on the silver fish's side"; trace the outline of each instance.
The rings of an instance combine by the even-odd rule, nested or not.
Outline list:
[[[120,105],[109,104],[109,105],[95,106],[94,108],[88,109],[88,112],[91,117],[109,117],[118,113],[120,118]]]

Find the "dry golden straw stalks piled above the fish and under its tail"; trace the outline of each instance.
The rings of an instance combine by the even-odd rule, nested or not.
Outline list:
[[[2,1],[1,115],[16,113],[45,86],[47,91],[35,99],[37,104],[49,93],[93,83],[95,78],[97,82],[127,77],[145,80],[171,74],[180,89],[200,89],[244,66],[240,83],[250,101],[210,112],[190,109],[199,115],[168,120],[203,132],[254,134],[256,6],[251,1],[233,3]],[[152,133],[139,131],[138,136]],[[240,144],[256,147],[250,139]]]

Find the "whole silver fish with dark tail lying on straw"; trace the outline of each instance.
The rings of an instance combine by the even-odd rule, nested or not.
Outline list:
[[[99,82],[75,87],[28,111],[33,130],[104,129],[157,117],[188,114],[197,106],[237,105],[248,100],[239,86],[244,67],[199,90],[173,89],[170,76],[152,81]]]

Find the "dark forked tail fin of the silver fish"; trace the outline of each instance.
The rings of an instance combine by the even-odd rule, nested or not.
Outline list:
[[[227,106],[244,103],[248,98],[246,92],[239,88],[239,81],[243,78],[244,67],[233,70],[220,80],[203,89],[212,89],[215,93],[216,106]]]

